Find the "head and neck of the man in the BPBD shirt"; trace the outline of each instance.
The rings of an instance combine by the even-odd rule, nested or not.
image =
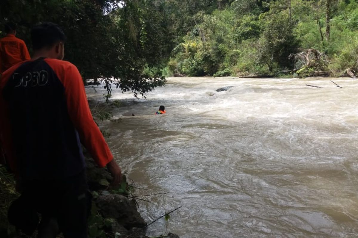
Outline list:
[[[63,60],[66,35],[62,29],[52,22],[44,22],[31,30],[31,41],[34,59],[45,57]]]

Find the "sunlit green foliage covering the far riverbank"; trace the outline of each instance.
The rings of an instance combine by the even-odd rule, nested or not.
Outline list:
[[[289,56],[303,49],[328,56],[330,64],[311,70],[358,70],[357,0],[331,1],[329,38],[326,0],[184,1],[177,11],[173,2],[182,1],[166,1],[173,19],[181,15],[174,20],[178,44],[168,63],[171,74],[282,74],[297,67]]]

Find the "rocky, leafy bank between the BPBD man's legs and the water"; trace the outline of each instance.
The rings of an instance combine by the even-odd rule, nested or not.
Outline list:
[[[90,158],[86,164],[92,193],[89,237],[147,238],[147,223],[137,211],[137,202],[130,195],[134,188],[127,183],[126,176],[120,186],[111,187],[112,176],[107,168],[98,168]],[[173,233],[160,237],[179,238]]]

